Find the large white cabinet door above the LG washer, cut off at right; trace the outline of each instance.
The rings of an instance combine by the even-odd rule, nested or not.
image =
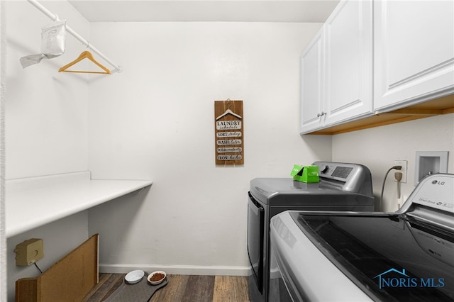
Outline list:
[[[454,1],[375,2],[375,109],[454,92]]]

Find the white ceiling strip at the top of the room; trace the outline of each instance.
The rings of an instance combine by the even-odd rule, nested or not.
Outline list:
[[[339,0],[69,0],[90,22],[324,22]]]

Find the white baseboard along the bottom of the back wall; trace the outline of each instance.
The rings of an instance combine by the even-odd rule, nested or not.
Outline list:
[[[210,267],[196,265],[99,264],[100,273],[127,274],[135,269],[144,272],[165,271],[167,274],[206,276],[249,276],[250,267]]]

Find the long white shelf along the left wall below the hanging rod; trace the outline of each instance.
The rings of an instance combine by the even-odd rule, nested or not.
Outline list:
[[[153,184],[91,179],[89,171],[6,180],[6,237],[33,230]]]

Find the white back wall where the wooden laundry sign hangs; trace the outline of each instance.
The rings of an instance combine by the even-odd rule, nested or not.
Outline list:
[[[154,181],[145,201],[89,211],[101,269],[248,273],[250,179],[331,160],[330,137],[298,134],[299,55],[320,26],[92,23],[92,40],[124,71],[89,84],[89,169]],[[242,166],[214,160],[214,101],[226,99],[243,100]]]

